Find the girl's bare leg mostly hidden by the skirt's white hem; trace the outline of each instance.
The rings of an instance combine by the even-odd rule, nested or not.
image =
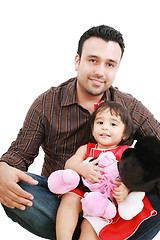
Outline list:
[[[92,225],[86,219],[84,219],[81,224],[81,235],[79,240],[99,240]]]

